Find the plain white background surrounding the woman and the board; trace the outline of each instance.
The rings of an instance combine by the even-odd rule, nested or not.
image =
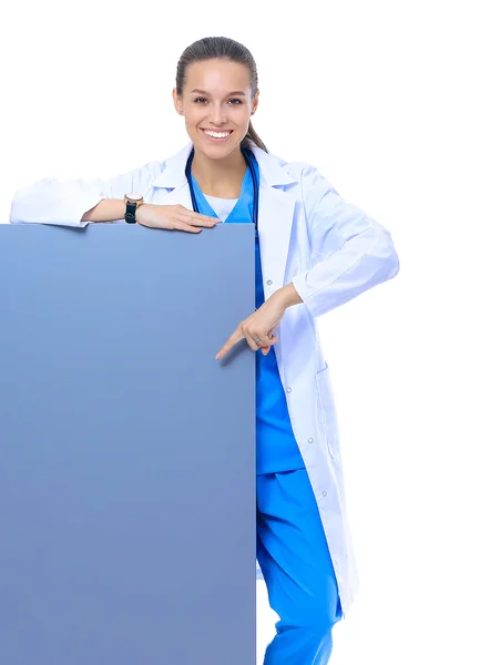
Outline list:
[[[171,98],[177,60],[223,34],[257,62],[254,125],[268,150],[319,167],[391,232],[396,278],[320,319],[361,585],[331,665],[490,663],[483,4],[3,10],[1,222],[42,177],[110,177],[177,152],[188,140]],[[258,663],[276,618],[259,583]]]

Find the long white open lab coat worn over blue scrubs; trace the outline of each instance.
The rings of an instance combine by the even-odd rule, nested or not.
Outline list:
[[[290,282],[303,298],[303,304],[286,309],[275,351],[345,617],[357,595],[358,570],[330,374],[315,319],[395,277],[398,255],[390,233],[341,198],[314,166],[287,163],[252,142],[248,145],[261,172],[258,233],[265,299]],[[143,194],[147,203],[192,209],[185,177],[191,149],[188,143],[163,163],[150,162],[109,181],[39,181],[16,193],[10,222],[85,226],[80,222],[83,213],[102,198],[123,198],[130,192]]]

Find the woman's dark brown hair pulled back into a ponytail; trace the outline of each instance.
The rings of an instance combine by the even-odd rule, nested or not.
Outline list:
[[[177,75],[175,78],[176,91],[182,96],[182,91],[185,82],[185,72],[187,66],[193,62],[203,62],[205,60],[229,60],[238,64],[244,64],[251,74],[251,88],[252,98],[257,92],[257,65],[252,53],[239,42],[229,39],[227,37],[205,37],[192,43],[182,53],[177,64]],[[252,126],[252,122],[248,123],[248,131],[244,136],[242,143],[246,140],[253,141],[258,147],[262,147],[265,152],[268,152],[257,132]]]

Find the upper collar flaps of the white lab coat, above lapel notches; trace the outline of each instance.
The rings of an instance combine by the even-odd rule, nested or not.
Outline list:
[[[257,160],[262,186],[274,187],[276,185],[289,185],[298,182],[284,171],[278,157],[266,153],[253,141],[247,141],[246,145],[251,147],[255,158]],[[178,153],[165,160],[164,170],[152,183],[152,185],[154,187],[174,190],[187,184],[185,177],[185,165],[192,147],[193,143],[190,142]]]

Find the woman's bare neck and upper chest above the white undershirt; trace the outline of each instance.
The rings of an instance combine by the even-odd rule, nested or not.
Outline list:
[[[191,172],[203,194],[237,198],[247,165],[239,147],[222,160],[211,160],[194,147]]]

